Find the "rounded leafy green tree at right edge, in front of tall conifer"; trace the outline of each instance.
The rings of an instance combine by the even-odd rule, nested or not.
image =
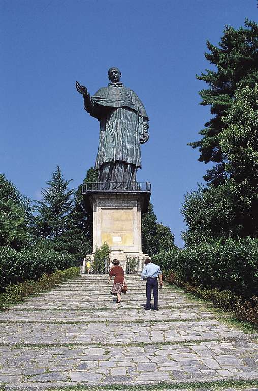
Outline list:
[[[258,237],[258,84],[244,87],[224,119],[219,144],[240,235]]]

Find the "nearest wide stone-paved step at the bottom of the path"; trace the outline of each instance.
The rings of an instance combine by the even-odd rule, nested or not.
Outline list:
[[[257,379],[257,344],[248,340],[188,345],[5,347],[1,380],[9,387],[140,385]]]

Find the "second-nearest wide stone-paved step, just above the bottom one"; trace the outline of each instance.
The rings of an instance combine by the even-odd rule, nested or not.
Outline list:
[[[198,322],[124,323],[122,333],[112,323],[0,323],[0,344],[130,344],[241,338],[242,332],[217,320]]]

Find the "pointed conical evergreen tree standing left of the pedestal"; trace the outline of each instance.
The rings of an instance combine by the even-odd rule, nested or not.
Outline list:
[[[47,181],[47,188],[42,189],[42,201],[35,207],[35,233],[45,239],[57,239],[69,229],[74,190],[69,190],[72,180],[65,180],[60,167]]]

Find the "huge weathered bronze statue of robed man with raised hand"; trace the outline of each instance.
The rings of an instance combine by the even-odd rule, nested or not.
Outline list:
[[[115,182],[113,187],[128,188],[135,185],[136,172],[141,167],[140,144],[149,138],[149,119],[141,100],[124,87],[120,77],[118,68],[110,68],[108,87],[100,88],[93,96],[78,82],[76,89],[83,96],[84,109],[100,121],[95,163],[99,182]]]

